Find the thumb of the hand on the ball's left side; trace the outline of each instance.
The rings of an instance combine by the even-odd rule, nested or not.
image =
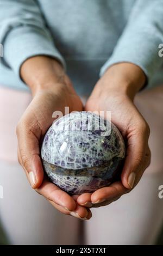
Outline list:
[[[35,136],[40,136],[40,129],[37,125],[28,127],[26,123],[17,126],[18,138],[18,159],[24,170],[27,172],[27,178],[33,188],[41,185],[43,180],[43,167],[40,159],[39,140]]]

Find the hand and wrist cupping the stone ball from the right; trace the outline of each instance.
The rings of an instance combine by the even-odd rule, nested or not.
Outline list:
[[[126,139],[127,151],[121,181],[94,193],[82,194],[76,198],[79,205],[98,207],[117,200],[136,186],[148,167],[151,157],[148,147],[149,127],[133,103],[145,79],[138,66],[131,63],[116,64],[105,72],[88,99],[86,111],[104,111],[105,114],[111,111],[111,121]]]

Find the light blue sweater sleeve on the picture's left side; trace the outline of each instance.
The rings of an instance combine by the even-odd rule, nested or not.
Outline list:
[[[22,63],[40,54],[58,59],[65,68],[35,0],[0,0],[0,43],[3,65],[18,76]]]

